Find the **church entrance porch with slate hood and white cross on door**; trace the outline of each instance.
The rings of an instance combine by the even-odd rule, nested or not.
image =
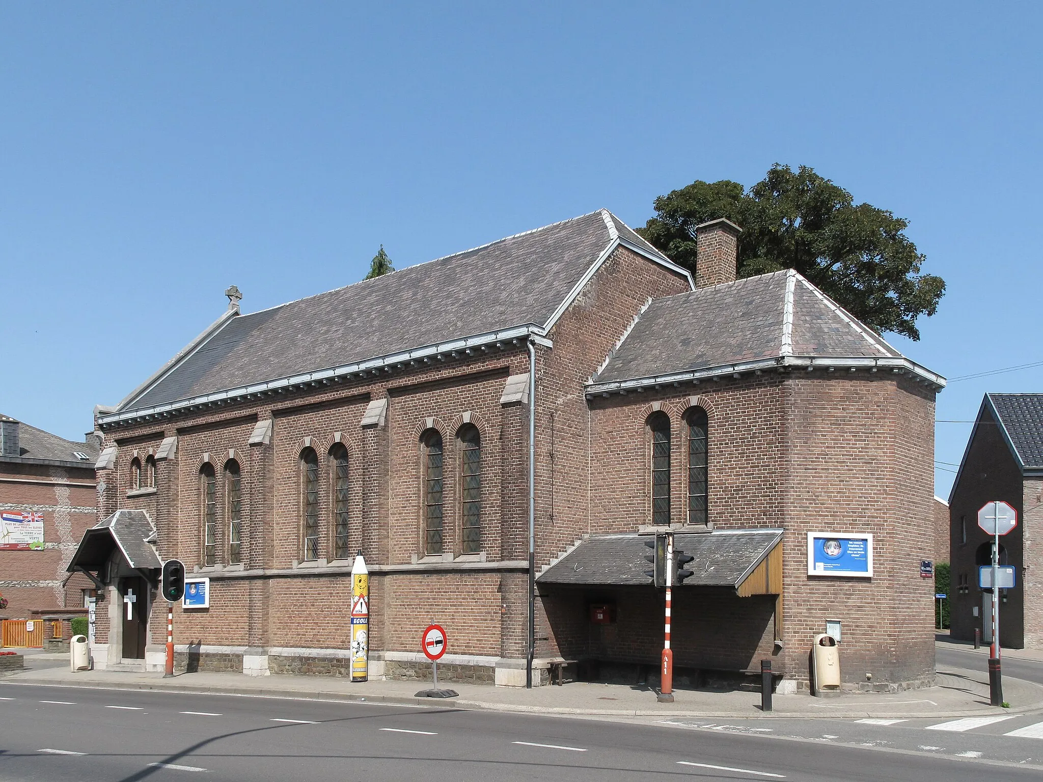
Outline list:
[[[70,572],[86,573],[98,589],[92,652],[99,667],[144,669],[148,616],[163,569],[154,542],[155,527],[145,511],[120,510],[83,533],[69,563]]]

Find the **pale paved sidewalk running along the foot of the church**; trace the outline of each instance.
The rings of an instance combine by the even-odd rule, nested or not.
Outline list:
[[[37,659],[43,656],[35,656]],[[48,655],[48,657],[51,657]],[[57,660],[57,656],[54,656]],[[43,660],[41,660],[43,662]],[[54,665],[54,662],[51,662]],[[448,683],[459,698],[416,698],[423,682],[386,681],[351,683],[332,677],[267,676],[242,674],[180,674],[164,679],[162,674],[130,674],[112,670],[71,673],[67,666],[35,667],[0,679],[7,684],[152,689],[211,692],[273,698],[442,706],[464,709],[529,712],[540,714],[621,717],[877,717],[938,718],[1012,714],[1043,710],[1043,687],[1019,679],[1004,678],[1003,692],[1010,709],[989,705],[988,673],[950,669],[938,676],[938,686],[895,693],[841,694],[811,698],[807,694],[773,697],[774,710],[760,711],[760,693],[739,690],[675,690],[675,702],[659,704],[647,687],[576,682],[562,687],[513,687]]]

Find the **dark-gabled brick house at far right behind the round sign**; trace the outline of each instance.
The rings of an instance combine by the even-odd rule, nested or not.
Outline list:
[[[991,593],[977,569],[992,564],[992,538],[978,510],[1003,500],[1018,526],[1000,538],[999,563],[1015,565],[1013,589],[1000,590],[1003,646],[1043,649],[1043,394],[986,394],[949,494],[952,637],[974,631],[991,641]]]

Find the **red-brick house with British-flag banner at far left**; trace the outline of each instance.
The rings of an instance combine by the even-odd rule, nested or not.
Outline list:
[[[0,415],[0,593],[7,600],[0,618],[87,613],[93,585],[66,568],[97,521],[99,442],[93,434],[84,442],[64,440]],[[62,632],[68,637],[68,621]]]

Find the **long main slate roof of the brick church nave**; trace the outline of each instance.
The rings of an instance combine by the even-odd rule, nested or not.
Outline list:
[[[375,279],[223,318],[116,413],[476,335],[516,327],[545,333],[620,244],[688,276],[601,210]],[[118,417],[103,414],[99,420]]]

